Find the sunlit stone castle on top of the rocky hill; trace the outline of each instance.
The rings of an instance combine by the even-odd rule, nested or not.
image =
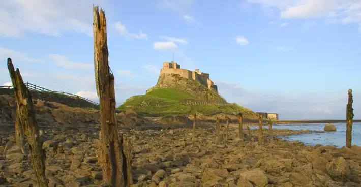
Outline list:
[[[181,65],[178,65],[173,61],[170,61],[163,63],[161,74],[178,74],[181,77],[198,81],[205,87],[218,93],[217,85],[214,85],[213,81],[209,79],[209,74],[199,72],[199,69],[196,69],[195,71],[181,69]]]

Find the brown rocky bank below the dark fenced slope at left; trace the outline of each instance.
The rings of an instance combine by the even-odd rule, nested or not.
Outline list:
[[[33,100],[35,118],[39,126],[53,127],[99,127],[99,110],[69,107],[61,103]],[[15,99],[9,95],[0,95],[0,126],[15,124]],[[119,126],[146,126],[151,121],[128,112],[116,116]]]

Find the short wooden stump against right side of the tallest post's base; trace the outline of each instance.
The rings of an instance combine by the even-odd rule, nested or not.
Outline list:
[[[132,152],[131,152],[131,145],[130,141],[126,135],[123,135],[123,172],[126,172],[125,176],[127,179],[127,186],[130,187],[134,184],[133,177],[132,177]],[[125,162],[124,162],[125,161]]]

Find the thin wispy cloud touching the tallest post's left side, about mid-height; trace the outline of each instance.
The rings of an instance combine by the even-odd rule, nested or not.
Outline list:
[[[53,59],[55,64],[67,69],[92,69],[94,68],[93,64],[90,63],[77,63],[75,61],[69,61],[66,56],[59,54],[49,54],[49,58]]]

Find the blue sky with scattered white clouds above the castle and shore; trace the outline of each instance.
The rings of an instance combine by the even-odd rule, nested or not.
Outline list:
[[[359,0],[2,0],[0,84],[99,101],[93,4],[105,10],[117,106],[157,83],[164,61],[209,73],[219,93],[280,119],[361,118]]]

